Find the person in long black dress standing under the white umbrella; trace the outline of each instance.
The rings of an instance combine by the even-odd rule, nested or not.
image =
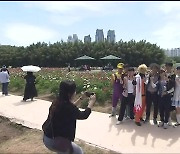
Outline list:
[[[31,99],[31,101],[33,101],[33,98],[37,97],[37,90],[35,87],[36,77],[32,72],[27,72],[27,75],[24,77],[24,79],[26,80],[26,86],[24,90],[23,101],[26,101],[27,99]]]

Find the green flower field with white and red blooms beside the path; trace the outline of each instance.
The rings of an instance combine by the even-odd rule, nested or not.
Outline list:
[[[26,75],[20,68],[10,68],[10,84],[9,90],[11,92],[19,92],[23,94],[25,87]],[[59,83],[62,80],[74,80],[77,85],[77,94],[82,91],[92,91],[96,93],[97,102],[99,105],[104,105],[105,102],[111,101],[112,86],[111,86],[112,72],[94,72],[94,71],[71,71],[68,72],[65,68],[42,68],[41,71],[34,73],[36,76],[36,88],[39,95],[58,94]]]

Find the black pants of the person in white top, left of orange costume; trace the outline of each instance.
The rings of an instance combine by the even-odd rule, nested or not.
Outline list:
[[[129,109],[130,109],[130,118],[134,119],[134,111],[133,111],[133,109],[134,109],[134,99],[135,99],[135,96],[133,94],[128,94],[128,97],[123,96],[120,111],[119,111],[118,121],[123,120],[124,113],[125,113],[125,110],[126,110],[126,105],[128,105]]]

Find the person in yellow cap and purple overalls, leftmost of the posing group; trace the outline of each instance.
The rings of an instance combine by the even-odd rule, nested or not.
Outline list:
[[[113,96],[112,96],[112,113],[110,117],[116,115],[117,103],[122,100],[123,92],[123,63],[117,65],[118,71],[112,74]]]

